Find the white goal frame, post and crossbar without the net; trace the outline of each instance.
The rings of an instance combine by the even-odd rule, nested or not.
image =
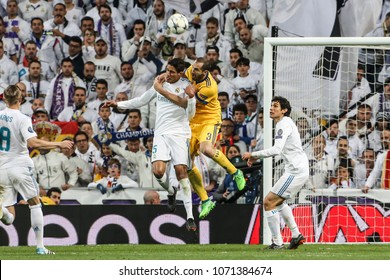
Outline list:
[[[277,46],[351,46],[375,48],[375,46],[389,46],[390,37],[278,37],[264,39],[264,149],[272,147],[273,144],[273,123],[269,117],[271,100],[273,97],[273,70],[274,70],[274,47]],[[273,165],[272,158],[263,160],[263,198],[271,190],[273,186],[272,174]],[[360,190],[359,190],[360,191]],[[263,229],[263,244],[271,243],[271,233],[267,222],[262,222]]]

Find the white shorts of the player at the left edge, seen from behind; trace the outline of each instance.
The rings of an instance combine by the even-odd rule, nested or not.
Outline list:
[[[39,194],[39,186],[31,167],[14,167],[0,170],[0,184],[5,186],[3,206],[11,206],[17,202],[18,193],[29,200]]]

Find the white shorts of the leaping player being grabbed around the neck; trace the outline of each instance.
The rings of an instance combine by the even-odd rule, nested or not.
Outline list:
[[[171,161],[173,166],[183,164],[189,166],[189,142],[186,137],[159,135],[153,138],[152,162]]]

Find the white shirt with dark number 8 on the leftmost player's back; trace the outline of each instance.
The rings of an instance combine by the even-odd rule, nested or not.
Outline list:
[[[0,111],[0,168],[33,167],[27,140],[35,136],[31,118],[15,109]]]

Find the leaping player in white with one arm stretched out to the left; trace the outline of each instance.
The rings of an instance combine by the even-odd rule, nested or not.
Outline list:
[[[194,89],[189,81],[181,78],[185,68],[182,59],[174,58],[168,62],[165,83],[156,80],[154,87],[141,96],[128,101],[107,101],[106,106],[119,109],[139,108],[157,97],[156,129],[152,152],[153,174],[160,185],[168,191],[169,203],[172,206],[175,203],[176,189],[169,185],[166,169],[169,161],[173,164],[177,180],[183,189],[184,207],[187,212],[186,228],[189,231],[196,231],[192,214],[191,186],[187,175],[190,164],[188,145],[191,138],[189,119],[195,114],[196,100]],[[161,95],[159,92],[163,90],[179,96],[182,101],[180,106]]]

